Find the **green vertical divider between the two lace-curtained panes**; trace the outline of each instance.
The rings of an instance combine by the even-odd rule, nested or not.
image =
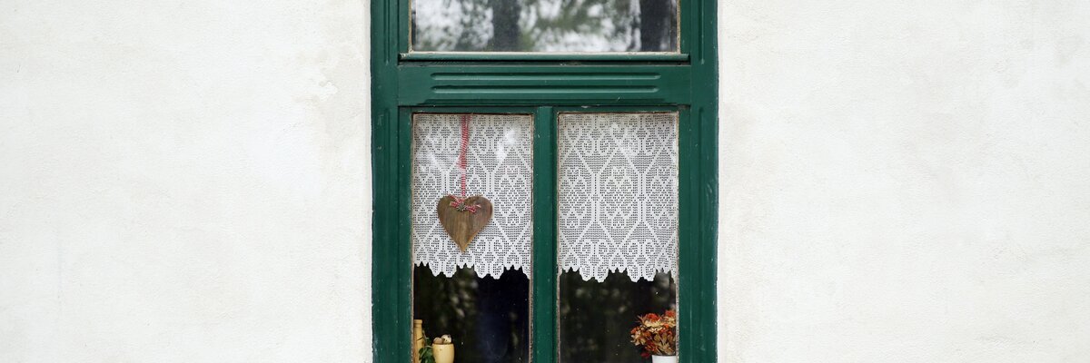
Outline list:
[[[533,277],[531,289],[531,362],[556,362],[557,308],[557,159],[556,112],[538,107],[534,114]]]

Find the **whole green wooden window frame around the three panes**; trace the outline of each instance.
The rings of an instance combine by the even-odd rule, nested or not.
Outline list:
[[[372,10],[375,362],[408,362],[412,113],[531,113],[531,360],[555,362],[560,112],[678,112],[678,352],[715,361],[717,73],[714,0],[680,0],[678,53],[409,53],[409,1]],[[543,253],[552,251],[553,253]]]

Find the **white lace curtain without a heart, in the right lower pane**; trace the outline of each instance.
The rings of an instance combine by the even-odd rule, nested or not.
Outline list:
[[[584,280],[677,273],[677,113],[561,113],[559,263]]]

